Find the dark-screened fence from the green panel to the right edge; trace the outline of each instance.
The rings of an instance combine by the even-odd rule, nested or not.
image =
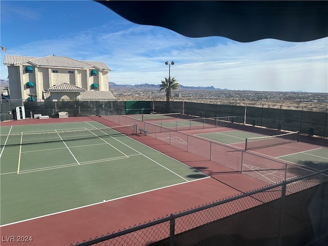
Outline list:
[[[154,101],[154,110],[165,113],[166,101]],[[328,137],[328,109],[297,106],[237,106],[171,101],[170,112],[199,117],[237,116],[242,124]]]

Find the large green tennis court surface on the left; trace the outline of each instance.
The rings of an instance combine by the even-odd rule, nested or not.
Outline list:
[[[208,177],[104,128],[95,121],[1,127],[9,133],[1,137],[1,225]]]

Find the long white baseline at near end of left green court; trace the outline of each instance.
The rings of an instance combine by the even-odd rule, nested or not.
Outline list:
[[[204,178],[199,178],[199,179],[194,179],[194,180],[187,181],[187,182],[194,182],[194,181],[198,181],[198,180],[205,179],[205,178],[210,178],[210,176],[204,177]],[[6,226],[11,226],[12,224],[17,224],[17,223],[22,223],[22,222],[34,220],[34,219],[48,217],[48,216],[55,215],[55,214],[61,214],[61,213],[70,212],[70,211],[74,211],[74,210],[78,210],[78,209],[84,209],[84,208],[88,208],[88,207],[95,206],[95,205],[98,205],[98,204],[101,204],[101,203],[105,203],[105,202],[111,202],[111,201],[115,201],[115,200],[119,200],[119,199],[131,197],[131,196],[145,194],[145,193],[152,192],[152,191],[157,191],[157,190],[166,189],[166,188],[169,188],[169,187],[179,186],[179,185],[183,185],[183,183],[187,183],[187,182],[175,183],[174,185],[165,186],[165,187],[161,187],[161,188],[156,188],[156,189],[149,190],[149,191],[143,191],[143,192],[139,192],[139,193],[128,195],[128,196],[117,197],[117,198],[114,198],[114,199],[111,199],[111,200],[107,200],[107,201],[104,201],[103,200],[103,201],[100,201],[100,202],[92,203],[92,204],[89,204],[89,205],[86,205],[86,206],[81,206],[81,207],[74,208],[74,209],[68,209],[68,210],[64,210],[64,211],[60,211],[60,212],[56,212],[56,213],[52,213],[52,214],[46,214],[46,215],[42,215],[42,216],[30,218],[30,219],[25,219],[25,220],[20,220],[20,221],[8,223],[8,224],[3,224],[2,226],[0,226],[0,228],[1,227],[6,227]]]

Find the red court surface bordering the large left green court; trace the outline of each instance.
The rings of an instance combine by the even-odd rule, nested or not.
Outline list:
[[[1,125],[50,124],[90,119],[109,127],[117,126],[98,116],[26,119],[2,122]],[[150,136],[131,137],[211,177],[11,224],[1,228],[1,245],[75,244],[268,185]],[[18,236],[32,236],[33,240],[27,243],[10,242],[6,240],[10,236],[13,239],[17,239]]]

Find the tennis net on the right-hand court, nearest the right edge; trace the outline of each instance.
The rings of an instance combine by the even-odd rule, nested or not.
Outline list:
[[[249,137],[245,139],[245,151],[289,144],[299,141],[299,132],[290,132],[274,136]]]

